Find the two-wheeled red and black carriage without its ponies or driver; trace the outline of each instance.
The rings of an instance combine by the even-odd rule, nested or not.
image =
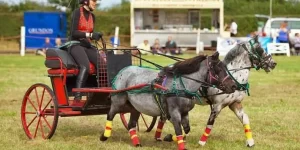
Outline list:
[[[99,56],[98,64],[94,66],[90,63],[86,86],[80,89],[74,88],[79,70],[72,56],[64,48],[47,50],[45,66],[49,68],[47,72],[52,88],[42,83],[34,84],[27,90],[22,102],[21,119],[28,138],[41,136],[50,139],[56,130],[59,117],[107,114],[110,94],[121,92],[111,88],[111,81],[124,67],[141,66],[142,61],[137,49],[106,49],[105,43],[102,44],[103,49],[95,54]],[[133,57],[132,52],[138,57]],[[131,89],[142,86],[144,85],[137,85]],[[72,97],[78,91],[84,93],[84,100],[73,106]],[[126,113],[120,113],[120,118],[127,128]],[[151,131],[156,117],[142,118],[146,131]]]

